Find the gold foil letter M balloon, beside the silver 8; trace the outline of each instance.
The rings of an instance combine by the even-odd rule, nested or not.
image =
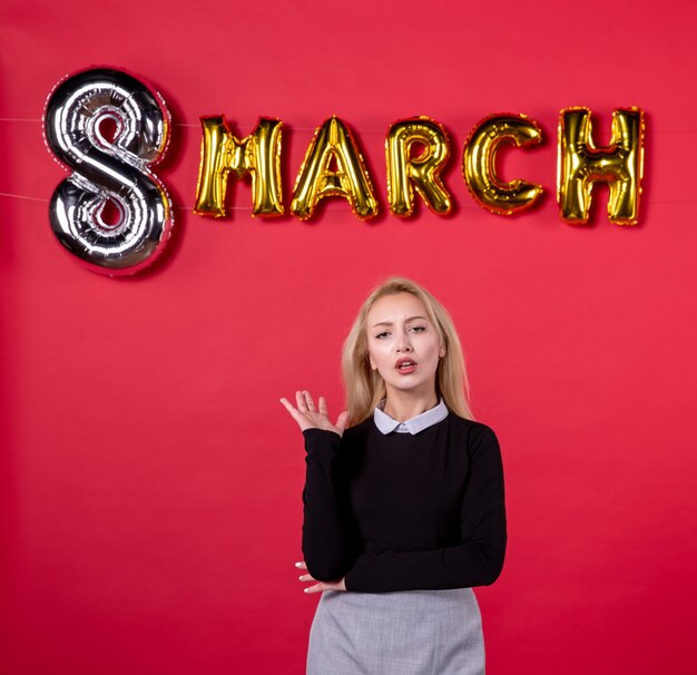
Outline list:
[[[202,117],[200,166],[194,212],[225,215],[225,194],[230,172],[252,176],[252,215],[283,214],[281,194],[281,128],[278,119],[261,117],[254,131],[238,140],[222,117]]]

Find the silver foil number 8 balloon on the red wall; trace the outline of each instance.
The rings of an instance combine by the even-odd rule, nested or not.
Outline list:
[[[51,198],[51,228],[89,268],[134,274],[161,253],[173,209],[149,167],[165,153],[169,126],[163,98],[120,70],[84,70],[49,95],[46,143],[72,169]]]

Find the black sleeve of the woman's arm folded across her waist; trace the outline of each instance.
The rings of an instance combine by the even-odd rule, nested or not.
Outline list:
[[[493,584],[507,545],[503,467],[495,434],[477,424],[468,439],[470,477],[462,501],[459,546],[425,551],[360,555],[347,571],[347,590],[468,588]]]

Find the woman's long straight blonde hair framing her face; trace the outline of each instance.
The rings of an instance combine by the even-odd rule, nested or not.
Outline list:
[[[462,346],[450,314],[423,286],[403,276],[392,276],[373,288],[363,302],[344,341],[341,368],[346,391],[346,409],[351,412],[350,425],[359,424],[371,417],[373,409],[386,395],[382,376],[371,369],[366,320],[377,300],[397,293],[411,293],[423,303],[440,343],[445,345],[445,355],[439,360],[435,371],[436,395],[443,398],[451,412],[468,420],[474,419],[469,405],[470,391]]]

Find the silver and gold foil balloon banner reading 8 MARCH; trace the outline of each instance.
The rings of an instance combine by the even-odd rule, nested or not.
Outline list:
[[[49,218],[60,244],[89,268],[108,275],[134,274],[161,253],[171,233],[173,205],[151,167],[167,148],[170,119],[163,97],[121,70],[82,70],[51,91],[43,117],[46,141],[71,173],[53,193]],[[102,131],[105,120],[114,127],[112,139]],[[262,117],[242,139],[223,117],[202,117],[200,123],[195,213],[224,216],[228,182],[248,175],[252,215],[284,215],[283,123]],[[644,135],[644,111],[618,108],[612,113],[610,145],[596,147],[590,110],[561,110],[557,199],[563,221],[587,223],[592,187],[606,183],[610,222],[637,224]],[[490,115],[477,124],[462,154],[462,176],[473,199],[503,216],[531,208],[542,195],[542,186],[502,180],[497,174],[497,151],[502,144],[527,148],[541,139],[539,125],[521,114]],[[428,117],[395,121],[387,129],[385,153],[387,203],[393,215],[412,215],[416,196],[434,214],[452,209],[452,197],[441,179],[450,158],[450,141],[441,124]],[[345,199],[361,219],[379,211],[359,145],[336,117],[316,129],[288,212],[310,218],[325,197]],[[116,208],[116,223],[104,217],[107,203]]]

